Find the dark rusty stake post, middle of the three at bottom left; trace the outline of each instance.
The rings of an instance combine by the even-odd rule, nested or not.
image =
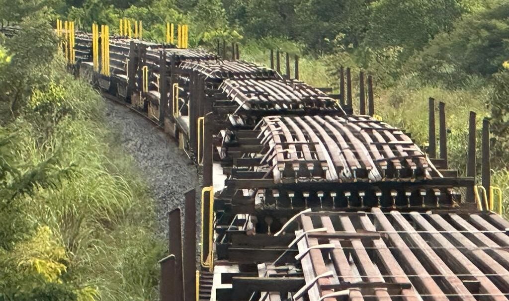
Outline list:
[[[180,225],[180,208],[173,209],[168,214],[169,254],[175,255],[174,300],[184,299],[184,277],[182,275],[182,233]]]

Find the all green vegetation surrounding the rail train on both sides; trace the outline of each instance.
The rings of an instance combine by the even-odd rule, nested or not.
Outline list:
[[[340,66],[365,70],[377,114],[420,145],[428,97],[446,103],[449,158],[461,171],[474,110],[479,134],[491,119],[493,182],[509,196],[506,1],[0,0],[0,19],[24,29],[0,39],[0,300],[157,295],[152,200],[108,144],[100,97],[55,55],[56,17],[112,33],[120,18],[142,20],[144,38],[157,41],[165,22],[187,23],[190,47],[240,42],[243,59],[266,65],[270,48],[298,54],[301,79],[315,86],[337,89]]]

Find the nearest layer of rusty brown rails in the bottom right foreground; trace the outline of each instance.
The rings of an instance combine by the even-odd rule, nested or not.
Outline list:
[[[257,275],[238,270],[223,277],[215,293],[224,301],[507,300],[509,245],[493,235],[509,236],[496,220],[489,213],[379,208],[301,213],[278,243],[232,233],[230,260],[242,249],[246,259],[266,261]]]

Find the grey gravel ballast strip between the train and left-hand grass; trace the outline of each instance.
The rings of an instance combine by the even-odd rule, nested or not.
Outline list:
[[[133,157],[137,169],[146,176],[157,203],[159,231],[167,237],[169,210],[180,207],[184,213],[184,193],[193,188],[197,197],[200,195],[197,168],[173,139],[145,117],[112,101],[105,100],[105,106],[107,122],[117,133],[114,143]],[[196,206],[200,208],[199,203]],[[196,230],[200,232],[198,223]]]

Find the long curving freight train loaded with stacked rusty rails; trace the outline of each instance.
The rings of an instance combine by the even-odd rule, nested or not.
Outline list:
[[[374,118],[373,79],[366,92],[362,72],[355,115],[350,69],[333,95],[297,79],[298,59],[292,79],[288,54],[281,76],[279,51],[274,71],[273,51],[269,69],[241,61],[237,45],[228,61],[99,39],[98,27],[65,36],[76,75],[143,113],[201,167],[201,267],[194,273],[191,191],[183,238],[180,210],[169,216],[163,300],[507,300],[509,222],[492,212],[487,121],[475,184],[475,113],[459,177],[447,163],[444,104],[436,158],[435,101],[425,153]]]

